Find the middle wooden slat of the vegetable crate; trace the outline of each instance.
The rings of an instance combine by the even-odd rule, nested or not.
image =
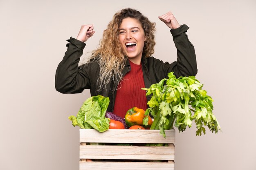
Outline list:
[[[174,160],[173,146],[80,145],[80,159]]]

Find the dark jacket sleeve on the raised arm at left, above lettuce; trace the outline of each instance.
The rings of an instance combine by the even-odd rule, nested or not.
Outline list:
[[[63,60],[55,74],[55,88],[61,93],[81,93],[90,88],[90,79],[83,67],[79,67],[85,43],[70,37]]]

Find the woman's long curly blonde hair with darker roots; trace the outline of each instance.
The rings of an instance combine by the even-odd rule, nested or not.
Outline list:
[[[106,88],[106,85],[111,81],[114,82],[117,88],[118,80],[123,77],[122,71],[127,56],[119,42],[119,26],[124,18],[137,19],[144,29],[146,41],[144,42],[142,56],[150,57],[154,53],[155,22],[150,22],[147,17],[135,9],[127,8],[115,13],[107,29],[103,31],[103,38],[99,42],[99,47],[92,51],[92,55],[88,59],[88,62],[96,58],[99,61],[100,73],[97,81],[98,90]]]

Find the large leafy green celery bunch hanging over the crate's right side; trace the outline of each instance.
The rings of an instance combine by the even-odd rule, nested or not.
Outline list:
[[[151,113],[154,117],[150,129],[160,129],[165,137],[164,130],[175,126],[179,131],[186,130],[195,121],[196,135],[205,134],[208,126],[211,132],[218,133],[220,125],[213,115],[213,99],[202,90],[202,84],[195,79],[195,76],[176,78],[173,72],[168,73],[169,79],[162,79],[150,88],[142,88],[147,91],[146,95],[152,95],[148,101],[149,108],[145,115]],[[193,108],[193,109],[192,109]],[[194,112],[192,115],[191,111]]]

